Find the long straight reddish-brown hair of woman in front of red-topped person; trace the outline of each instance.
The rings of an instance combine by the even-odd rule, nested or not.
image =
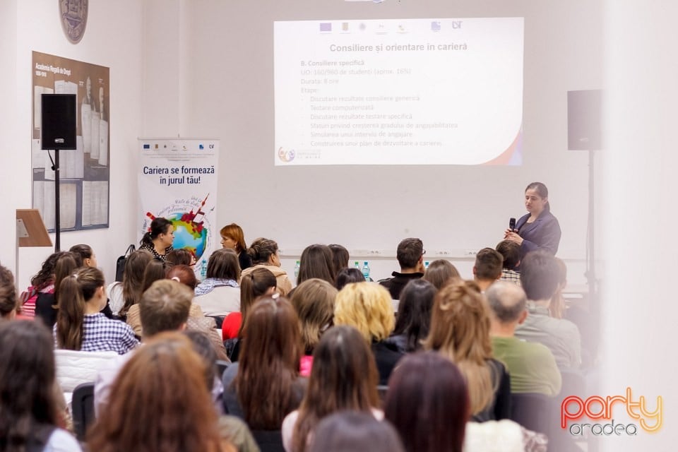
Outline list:
[[[279,430],[297,408],[292,386],[302,355],[298,322],[282,297],[260,299],[247,316],[233,384],[250,429]]]

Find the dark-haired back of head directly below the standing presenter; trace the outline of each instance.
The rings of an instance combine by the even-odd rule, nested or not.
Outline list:
[[[521,262],[521,285],[531,300],[551,299],[560,279],[556,258],[546,251],[531,251]]]

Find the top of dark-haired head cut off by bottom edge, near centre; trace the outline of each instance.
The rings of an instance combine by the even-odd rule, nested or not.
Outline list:
[[[364,412],[329,415],[316,427],[309,452],[405,452],[398,432],[389,422]]]

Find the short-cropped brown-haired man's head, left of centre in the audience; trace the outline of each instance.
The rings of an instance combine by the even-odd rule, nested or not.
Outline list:
[[[150,337],[163,331],[176,331],[189,319],[194,292],[173,280],[157,280],[143,292],[139,316],[143,335]]]

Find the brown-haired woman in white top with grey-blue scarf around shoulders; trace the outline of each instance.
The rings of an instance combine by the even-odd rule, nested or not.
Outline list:
[[[196,287],[194,303],[206,316],[227,316],[240,310],[240,266],[232,249],[214,251],[207,264],[207,278]]]

